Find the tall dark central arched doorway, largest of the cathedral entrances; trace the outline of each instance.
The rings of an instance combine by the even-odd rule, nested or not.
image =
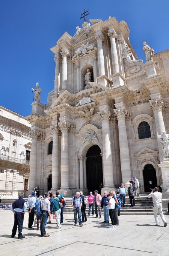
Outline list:
[[[98,190],[100,183],[103,183],[102,157],[100,153],[101,150],[98,145],[94,145],[89,148],[86,154],[86,177],[89,192]]]

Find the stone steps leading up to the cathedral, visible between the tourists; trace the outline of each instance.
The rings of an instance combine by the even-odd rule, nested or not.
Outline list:
[[[135,214],[135,215],[152,215],[152,198],[148,198],[149,193],[141,193],[139,197],[135,197],[136,207],[130,207],[130,200],[129,197],[125,197],[125,207],[121,207],[120,214]],[[24,198],[27,202],[27,198]],[[71,199],[72,197],[65,197],[66,200],[66,208],[63,210],[63,214],[73,214],[73,209],[71,206]],[[0,208],[2,207],[3,203],[7,206],[9,203],[13,203],[14,199],[1,199]],[[88,215],[88,205],[86,206],[86,214]],[[9,210],[9,209],[6,209]],[[28,209],[27,209],[28,210]],[[103,214],[103,210],[101,210]],[[168,209],[163,208],[163,213],[168,214]]]

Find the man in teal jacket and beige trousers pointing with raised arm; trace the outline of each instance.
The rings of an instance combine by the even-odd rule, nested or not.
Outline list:
[[[53,199],[51,205],[52,205],[52,209],[53,209],[53,213],[54,215],[56,216],[56,222],[57,222],[57,225],[56,225],[56,229],[60,229],[61,228],[61,225],[60,225],[60,208],[63,207],[62,203],[60,202],[60,200],[62,199],[63,196],[65,196],[67,191],[64,191],[64,193],[59,196],[59,192],[56,191],[56,197],[55,199]]]

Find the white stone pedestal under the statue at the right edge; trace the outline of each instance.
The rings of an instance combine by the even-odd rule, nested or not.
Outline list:
[[[158,166],[163,178],[163,199],[169,199],[169,158],[164,158]]]

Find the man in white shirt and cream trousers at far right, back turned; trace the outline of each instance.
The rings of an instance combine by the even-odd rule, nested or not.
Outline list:
[[[154,193],[153,193],[153,190],[151,191],[151,193],[148,195],[148,198],[150,197],[152,197],[152,202],[153,202],[153,211],[154,211],[154,218],[156,223],[155,226],[159,227],[159,220],[158,220],[158,213],[159,213],[164,223],[164,227],[166,227],[167,222],[163,214],[163,207],[161,203],[162,194],[158,192],[158,188],[154,188]]]

